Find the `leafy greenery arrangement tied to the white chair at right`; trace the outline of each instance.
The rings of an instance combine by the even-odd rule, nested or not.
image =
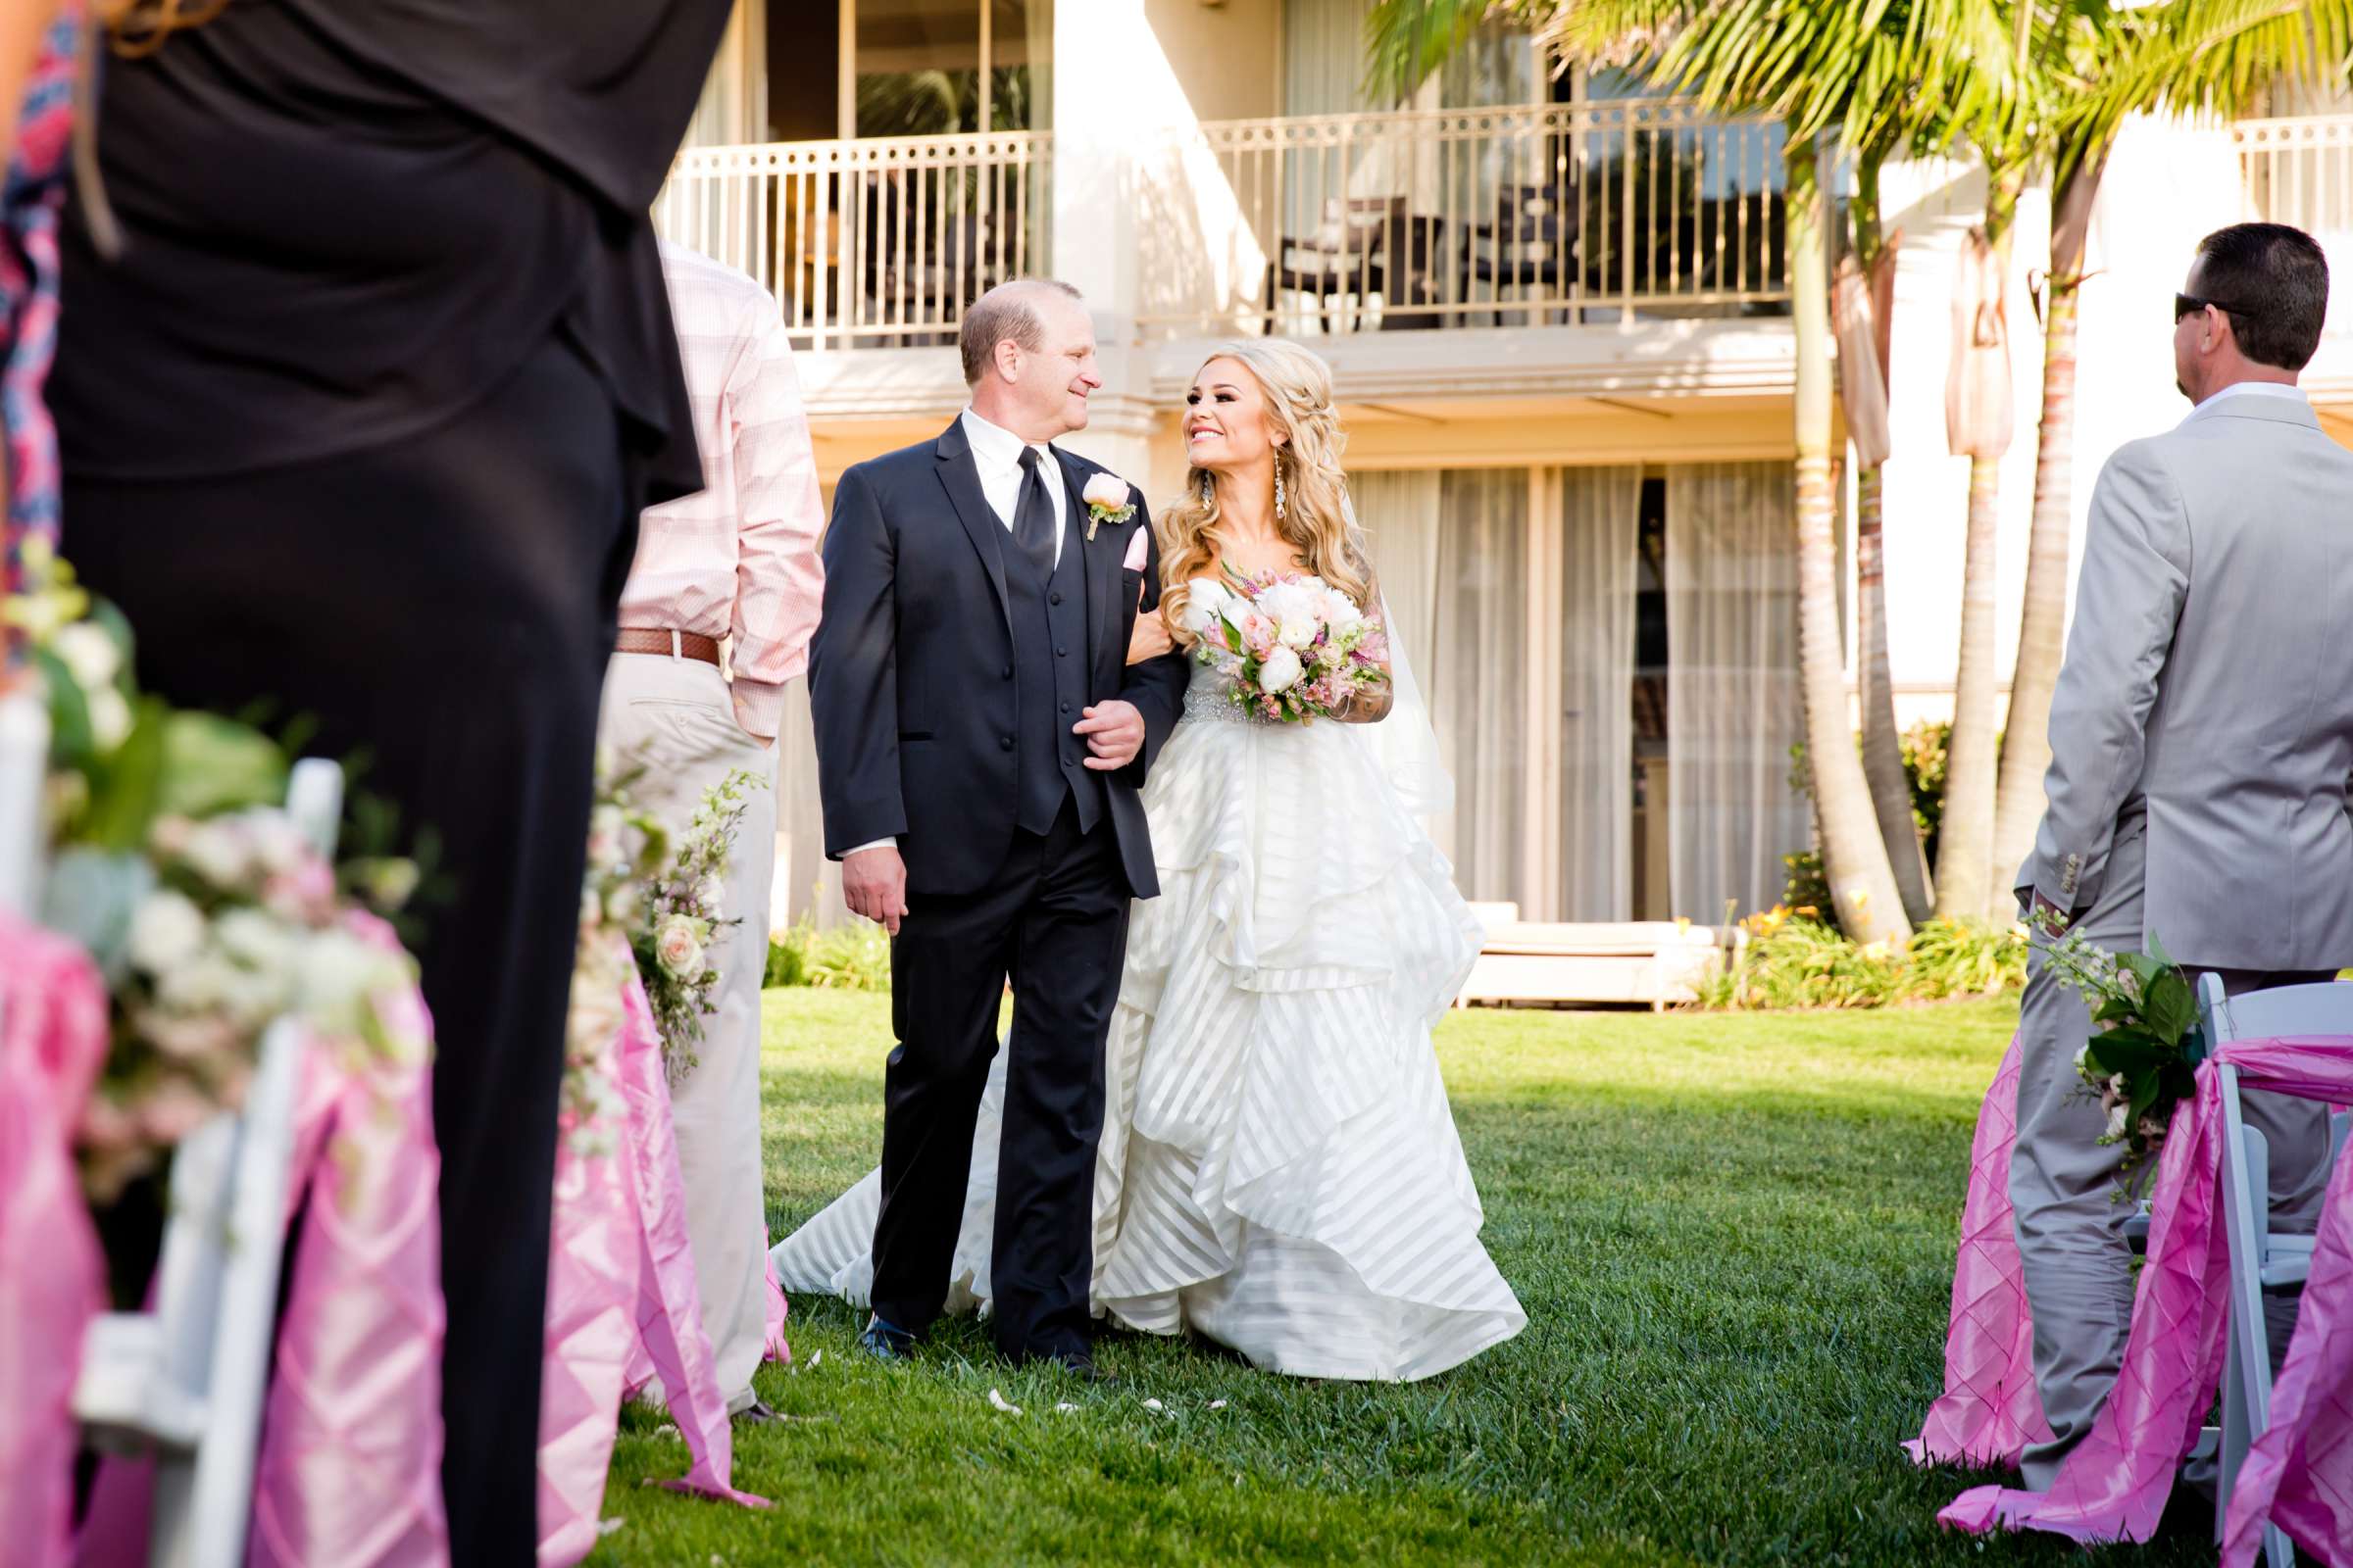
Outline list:
[[[2155,1157],[2174,1105],[2198,1091],[2191,1044],[2198,1037],[2198,992],[2155,936],[2148,952],[2115,954],[2082,936],[2059,936],[2042,954],[2049,976],[2082,994],[2092,1025],[2106,1025],[2075,1053],[2085,1098],[2108,1112],[2099,1143],[2125,1147],[2120,1187]]]

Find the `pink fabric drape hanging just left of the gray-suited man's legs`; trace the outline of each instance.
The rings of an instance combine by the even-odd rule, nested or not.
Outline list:
[[[1969,1197],[1960,1211],[1953,1316],[1944,1338],[1944,1394],[1920,1436],[1904,1443],[1915,1465],[2017,1465],[2026,1443],[2047,1443],[2035,1389],[2035,1328],[2026,1312],[2019,1232],[2009,1208],[2009,1150],[2019,1135],[2019,1041],[1977,1112]]]

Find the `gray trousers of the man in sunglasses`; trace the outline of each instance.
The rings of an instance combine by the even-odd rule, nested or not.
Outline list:
[[[2099,903],[2075,919],[2075,931],[2111,952],[2139,952],[2146,842],[2141,820],[2118,825]],[[2158,931],[2158,940],[2165,933]],[[2082,1098],[2075,1051],[2092,1037],[2082,997],[2042,971],[2042,938],[2028,959],[2019,1004],[2019,1140],[2009,1157],[2009,1201],[2017,1208],[2026,1300],[2035,1319],[2035,1382],[2052,1441],[2026,1450],[2026,1486],[2047,1490],[2059,1462],[2092,1429],[2115,1387],[2132,1326],[2132,1248],[2125,1244],[2129,1204],[2115,1201],[2115,1168],[2125,1145],[2101,1147],[2106,1112]],[[2311,973],[2219,971],[2228,992],[2264,990]],[[2329,1126],[2318,1100],[2249,1093],[2247,1124],[2271,1140],[2271,1225],[2311,1234],[2320,1225],[2327,1187]],[[2268,1298],[2273,1366],[2287,1354],[2297,1298]]]

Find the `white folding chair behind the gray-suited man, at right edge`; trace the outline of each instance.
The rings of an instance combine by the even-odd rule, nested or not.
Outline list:
[[[2219,976],[2198,980],[2198,1018],[2209,1046],[2233,1039],[2292,1034],[2353,1034],[2353,985],[2282,985],[2226,997]],[[2313,1272],[2311,1237],[2271,1234],[2271,1145],[2247,1126],[2238,1091],[2238,1067],[2217,1070],[2221,1086],[2221,1213],[2231,1244],[2231,1335],[2221,1378],[2221,1427],[2217,1441],[2214,1528],[2231,1507],[2231,1486],[2264,1427],[2271,1425],[2271,1335],[2264,1324],[2266,1293],[2304,1291]],[[2329,1119],[2329,1161],[2346,1147],[2346,1117]],[[2294,1568],[2287,1535],[2264,1528],[2268,1568]]]

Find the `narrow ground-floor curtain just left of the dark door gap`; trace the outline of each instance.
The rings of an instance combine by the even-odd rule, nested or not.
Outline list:
[[[1640,468],[1560,475],[1560,919],[1633,914]]]

